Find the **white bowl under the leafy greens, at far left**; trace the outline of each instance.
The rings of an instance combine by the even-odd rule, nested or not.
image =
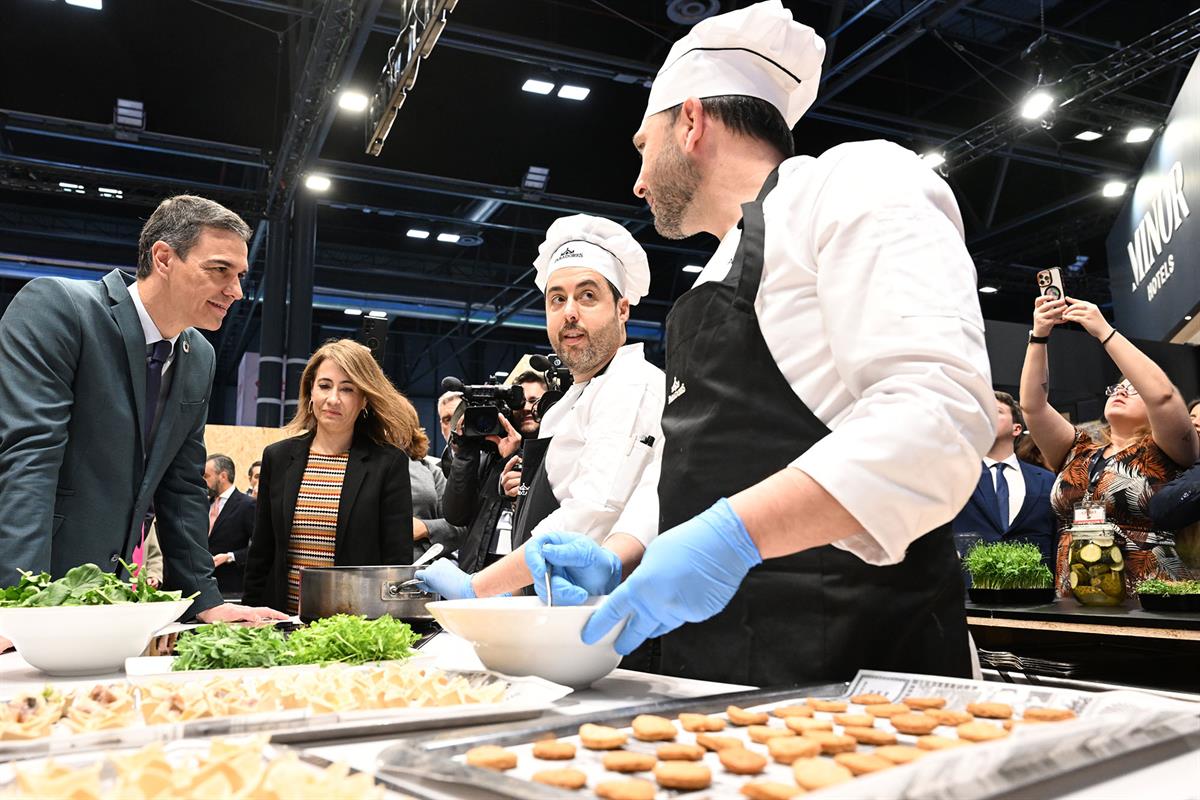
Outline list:
[[[191,600],[112,606],[0,608],[0,636],[31,666],[50,675],[120,672],[154,632],[175,621]]]

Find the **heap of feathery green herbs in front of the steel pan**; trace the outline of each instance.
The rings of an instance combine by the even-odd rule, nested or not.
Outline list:
[[[173,670],[236,669],[407,658],[420,638],[391,616],[337,614],[284,637],[275,626],[205,625],[179,637]]]

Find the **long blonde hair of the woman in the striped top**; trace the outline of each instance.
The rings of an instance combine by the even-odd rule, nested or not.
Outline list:
[[[403,450],[409,458],[424,458],[430,451],[430,440],[421,431],[416,409],[383,374],[371,350],[354,339],[325,342],[308,359],[304,374],[300,375],[299,404],[296,415],[288,423],[288,432],[304,434],[317,427],[317,415],[312,410],[312,385],[325,359],[341,367],[366,397],[365,413],[359,416],[355,428],[377,444]]]

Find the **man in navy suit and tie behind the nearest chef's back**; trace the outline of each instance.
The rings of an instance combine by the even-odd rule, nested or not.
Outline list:
[[[979,483],[959,515],[954,533],[984,541],[1026,541],[1038,546],[1050,570],[1057,542],[1050,488],[1054,473],[1016,459],[1014,443],[1025,432],[1021,408],[1008,392],[996,392],[996,440],[984,456]]]

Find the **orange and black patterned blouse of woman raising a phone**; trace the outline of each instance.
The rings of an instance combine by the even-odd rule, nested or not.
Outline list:
[[[1164,453],[1151,435],[1103,459],[1104,447],[1085,431],[1075,432],[1075,444],[1067,463],[1055,479],[1050,505],[1058,521],[1058,593],[1070,595],[1070,534],[1075,504],[1086,497],[1104,503],[1105,518],[1121,527],[1118,543],[1126,553],[1126,591],[1145,578],[1180,577],[1183,569],[1175,552],[1175,531],[1154,530],[1150,519],[1150,498],[1163,483],[1183,471]],[[1103,461],[1098,461],[1103,459]],[[1092,475],[1097,476],[1093,481]]]

